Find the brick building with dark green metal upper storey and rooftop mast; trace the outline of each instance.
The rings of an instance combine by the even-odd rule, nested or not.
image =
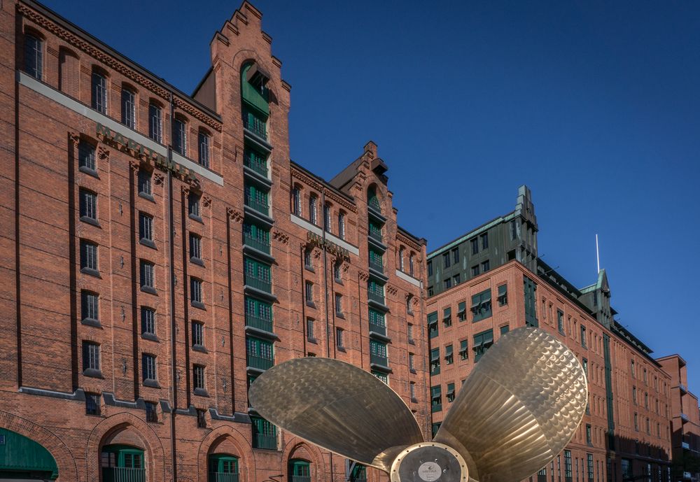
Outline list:
[[[615,321],[605,270],[575,288],[538,258],[537,232],[523,186],[515,211],[428,254],[433,432],[489,346],[536,326],[566,343],[589,377],[580,429],[538,482],[668,482],[671,376]]]

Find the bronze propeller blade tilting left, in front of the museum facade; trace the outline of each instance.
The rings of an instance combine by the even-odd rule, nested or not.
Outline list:
[[[265,371],[248,392],[275,425],[343,457],[389,472],[423,441],[405,402],[374,375],[330,358],[295,358]]]

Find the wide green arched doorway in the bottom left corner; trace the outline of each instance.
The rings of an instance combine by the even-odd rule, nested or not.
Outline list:
[[[0,428],[0,479],[49,481],[58,477],[53,455],[24,435]]]

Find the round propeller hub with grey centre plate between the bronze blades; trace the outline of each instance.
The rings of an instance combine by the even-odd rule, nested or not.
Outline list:
[[[422,442],[405,448],[391,464],[391,482],[467,482],[467,464],[454,448]]]

